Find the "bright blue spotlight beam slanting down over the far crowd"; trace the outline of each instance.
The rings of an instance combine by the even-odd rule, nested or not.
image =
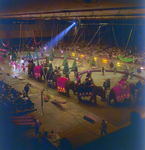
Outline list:
[[[52,41],[48,42],[47,46],[48,49],[50,49],[50,47],[54,47],[62,38],[64,35],[66,35],[68,33],[68,31],[75,25],[75,22],[70,25],[69,27],[67,27],[65,30],[63,30],[61,33],[59,33],[56,37],[54,37],[52,39]]]

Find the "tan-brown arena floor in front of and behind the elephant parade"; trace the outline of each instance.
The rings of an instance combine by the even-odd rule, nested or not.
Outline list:
[[[98,58],[99,69],[102,66],[106,67],[106,70],[109,69],[109,63],[103,64],[101,61],[102,58]],[[117,60],[113,60],[117,62]],[[69,60],[69,65],[71,66],[73,60]],[[54,59],[53,66],[60,66],[62,59]],[[11,78],[8,76],[0,75],[0,79],[4,79],[10,83],[18,91],[22,91],[27,82],[29,82],[32,87],[30,88],[29,97],[32,102],[35,103],[37,111],[32,112],[31,115],[35,115],[35,118],[39,119],[42,122],[40,126],[40,132],[50,131],[53,129],[60,137],[67,137],[68,140],[73,145],[73,148],[77,148],[81,145],[94,141],[101,136],[99,126],[101,125],[102,118],[105,118],[108,122],[108,133],[117,131],[130,124],[130,113],[136,111],[141,115],[141,118],[145,118],[145,109],[143,106],[135,105],[135,100],[132,98],[131,104],[126,105],[123,101],[114,107],[107,105],[107,102],[102,102],[100,97],[97,97],[97,105],[93,103],[88,103],[88,98],[84,99],[83,102],[79,102],[76,95],[73,95],[73,92],[70,91],[70,97],[66,97],[63,94],[58,93],[56,89],[47,88],[43,94],[51,95],[58,101],[67,102],[62,104],[61,107],[58,107],[51,103],[51,101],[43,103],[43,110],[41,107],[41,92],[45,87],[43,82],[38,82],[35,79],[29,78],[27,71],[24,73],[14,71],[8,64],[8,60],[4,64],[0,64],[3,71],[10,73],[11,76],[18,76],[21,80]],[[128,64],[131,68],[132,64]],[[134,66],[134,72],[137,74],[136,69],[138,66]],[[124,71],[126,68],[126,63],[123,63],[122,66],[117,70]],[[90,69],[89,63],[84,60],[83,64],[79,67],[79,71]],[[86,74],[82,76],[82,81],[85,79]],[[116,74],[112,72],[105,72],[105,75],[102,76],[101,72],[92,73],[92,78],[94,83],[97,86],[103,86],[103,82],[107,77],[111,80],[111,88],[119,81],[122,74]],[[141,73],[142,77],[145,77],[145,71]],[[70,74],[71,80],[74,79],[73,73]],[[130,83],[138,82],[138,78],[133,80],[129,79]],[[94,124],[85,120],[83,117],[88,116],[89,118],[95,121]],[[23,136],[31,139],[35,136],[34,129],[27,130],[23,133]]]

